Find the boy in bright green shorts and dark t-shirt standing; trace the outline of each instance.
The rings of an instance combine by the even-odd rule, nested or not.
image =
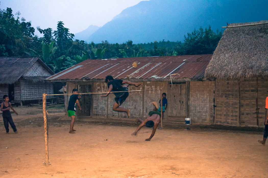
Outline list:
[[[73,94],[70,96],[69,104],[68,104],[68,116],[71,117],[71,124],[70,124],[70,131],[69,133],[75,133],[76,130],[73,129],[73,125],[75,124],[75,112],[76,112],[76,105],[79,107],[79,111],[81,111],[79,99],[81,96],[77,96],[78,90],[73,89]]]

